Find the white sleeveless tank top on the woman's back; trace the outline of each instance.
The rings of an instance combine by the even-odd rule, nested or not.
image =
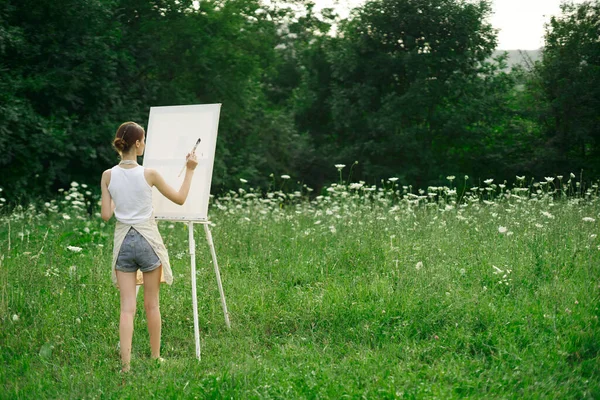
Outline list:
[[[144,177],[144,167],[112,167],[108,191],[115,202],[115,217],[123,224],[134,225],[152,216],[152,188]]]

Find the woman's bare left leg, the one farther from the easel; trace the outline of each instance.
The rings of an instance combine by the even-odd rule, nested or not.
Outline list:
[[[131,341],[133,338],[133,317],[135,316],[135,272],[117,271],[117,282],[121,292],[121,319],[119,341],[121,344],[122,371],[129,371],[131,362]]]

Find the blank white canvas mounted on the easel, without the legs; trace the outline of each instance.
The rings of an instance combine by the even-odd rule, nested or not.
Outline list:
[[[196,148],[198,166],[186,202],[177,205],[153,188],[157,219],[207,220],[220,111],[221,104],[150,108],[144,167],[156,169],[175,190],[179,190],[185,176],[185,170],[177,176],[185,165],[185,156],[201,139]]]

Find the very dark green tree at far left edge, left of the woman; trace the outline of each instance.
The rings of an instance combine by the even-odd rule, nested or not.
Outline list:
[[[0,7],[0,167],[7,194],[48,194],[96,162],[117,102],[110,1],[7,1]]]

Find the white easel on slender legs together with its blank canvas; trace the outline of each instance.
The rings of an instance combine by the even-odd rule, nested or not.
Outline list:
[[[192,274],[192,305],[194,310],[194,337],[196,358],[200,360],[200,333],[198,327],[198,300],[196,293],[196,241],[194,224],[204,225],[206,240],[210,247],[212,262],[217,276],[221,305],[225,314],[225,324],[231,328],[225,293],[221,284],[221,274],[208,221],[210,183],[217,144],[221,104],[190,104],[177,106],[150,107],[148,118],[148,138],[144,156],[144,167],[155,168],[163,174],[172,187],[181,185],[181,168],[186,162],[183,155],[189,149],[198,151],[198,167],[192,177],[189,196],[185,204],[175,204],[153,189],[152,206],[157,220],[183,222],[189,230],[189,247]],[[194,152],[192,150],[191,152]],[[182,165],[183,164],[183,165]],[[179,174],[177,174],[179,172]],[[194,183],[195,182],[195,183]]]

